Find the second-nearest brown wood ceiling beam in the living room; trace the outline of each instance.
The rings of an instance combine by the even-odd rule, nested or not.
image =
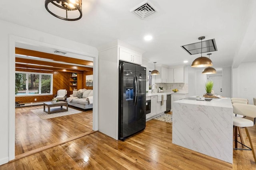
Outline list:
[[[23,58],[15,58],[15,62],[17,63],[28,63],[29,64],[39,64],[39,65],[43,65],[43,66],[51,66],[52,67],[56,67],[56,68],[62,68],[62,69],[73,69],[73,70],[86,70],[86,71],[92,71],[93,68],[90,67],[83,67],[83,66],[73,66],[73,65],[69,65],[69,64],[60,64],[60,63],[51,63],[51,62],[47,62],[47,61],[38,61],[38,60],[32,60],[32,59],[23,59]],[[17,63],[17,64],[18,64]]]

